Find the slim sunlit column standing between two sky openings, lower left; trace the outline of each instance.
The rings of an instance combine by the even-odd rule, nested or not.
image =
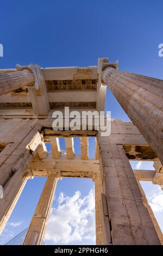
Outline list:
[[[23,245],[42,245],[58,178],[48,176]]]

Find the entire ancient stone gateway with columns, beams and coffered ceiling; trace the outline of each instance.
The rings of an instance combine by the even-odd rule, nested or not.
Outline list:
[[[86,68],[41,69],[32,64],[0,70],[1,232],[26,181],[47,176],[24,240],[24,245],[41,245],[58,179],[78,177],[95,181],[97,245],[163,243],[139,182],[163,186],[163,81],[117,68],[118,63],[100,58],[98,66]],[[101,136],[95,124],[90,129],[88,120],[85,130],[71,130],[64,108],[104,111],[106,86],[132,123],[111,119],[109,136]],[[54,111],[63,113],[63,129],[53,129]],[[92,136],[96,157],[90,160]],[[60,137],[65,138],[66,155]],[[80,156],[74,155],[73,137],[80,137]],[[52,153],[45,143],[51,144]],[[155,170],[133,170],[129,160],[154,161]]]

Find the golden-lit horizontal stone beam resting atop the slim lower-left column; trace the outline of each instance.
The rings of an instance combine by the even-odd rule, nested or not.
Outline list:
[[[99,173],[98,160],[81,160],[79,156],[75,156],[73,160],[67,159],[66,156],[54,160],[52,154],[49,154],[42,161],[38,156],[33,157],[24,175],[48,176],[55,174],[58,177],[92,178],[97,173]]]

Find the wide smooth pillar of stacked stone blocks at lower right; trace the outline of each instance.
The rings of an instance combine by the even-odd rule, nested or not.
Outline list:
[[[110,137],[98,136],[98,144],[112,245],[160,245],[123,145]]]

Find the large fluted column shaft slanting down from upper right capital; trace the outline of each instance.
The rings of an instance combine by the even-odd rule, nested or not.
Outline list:
[[[101,78],[163,164],[163,81],[110,66]]]

